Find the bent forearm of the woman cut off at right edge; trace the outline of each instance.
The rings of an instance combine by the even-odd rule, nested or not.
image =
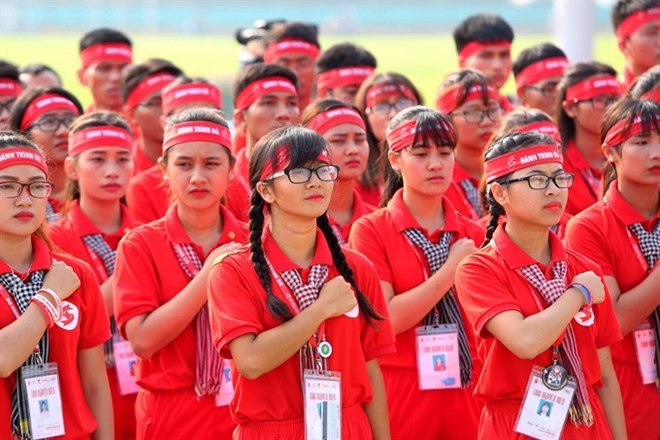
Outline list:
[[[660,269],[658,266],[637,286],[621,292],[619,283],[613,276],[605,276],[616,312],[621,333],[626,335],[634,330],[642,321],[653,313],[660,305]]]

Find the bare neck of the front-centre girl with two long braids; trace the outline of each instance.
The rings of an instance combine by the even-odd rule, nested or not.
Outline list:
[[[281,212],[271,214],[270,231],[275,243],[295,264],[309,267],[316,251],[316,220],[281,217],[284,217]]]

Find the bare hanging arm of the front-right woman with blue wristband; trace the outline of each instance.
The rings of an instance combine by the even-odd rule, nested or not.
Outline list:
[[[600,361],[603,386],[597,388],[596,393],[605,411],[605,417],[612,431],[612,437],[616,440],[625,440],[628,438],[628,434],[626,433],[626,421],[623,415],[621,390],[619,389],[619,381],[614,373],[609,347],[598,349],[598,360]]]

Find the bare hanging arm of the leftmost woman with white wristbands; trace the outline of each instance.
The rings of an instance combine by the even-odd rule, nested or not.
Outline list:
[[[98,427],[92,438],[95,440],[114,439],[114,419],[108,376],[105,373],[103,345],[79,350],[78,369],[83,393]]]

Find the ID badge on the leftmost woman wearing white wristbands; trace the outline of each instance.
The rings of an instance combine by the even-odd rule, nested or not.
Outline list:
[[[30,411],[32,438],[64,435],[62,395],[57,364],[29,365],[21,368]]]

